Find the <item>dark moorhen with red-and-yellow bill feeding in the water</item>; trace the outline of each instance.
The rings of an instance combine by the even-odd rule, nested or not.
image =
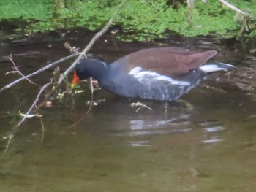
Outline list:
[[[129,99],[176,101],[212,72],[233,69],[213,61],[216,50],[152,47],[130,53],[112,64],[83,58],[74,69],[72,88],[93,77],[99,86]]]

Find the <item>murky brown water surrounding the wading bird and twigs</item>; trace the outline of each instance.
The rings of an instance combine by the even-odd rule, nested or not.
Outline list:
[[[83,47],[92,36],[78,31],[2,42],[0,87],[19,77],[4,76],[12,67],[4,55],[12,53],[20,71],[27,74],[68,55],[64,42]],[[105,102],[89,112],[88,89],[53,100],[52,107],[39,110],[42,119],[29,119],[19,128],[5,155],[7,139],[1,137],[1,191],[255,191],[253,47],[213,38],[124,43],[106,35],[91,53],[113,61],[159,44],[193,50],[211,47],[219,51],[217,60],[236,69],[212,74],[182,97],[192,107],[172,103],[167,113],[158,101],[143,101],[153,110],[136,112],[138,107],[130,107],[136,100],[103,90],[96,91],[94,99]],[[42,86],[52,72],[32,80]],[[18,123],[18,111],[26,112],[38,91],[24,81],[0,93],[2,136]]]

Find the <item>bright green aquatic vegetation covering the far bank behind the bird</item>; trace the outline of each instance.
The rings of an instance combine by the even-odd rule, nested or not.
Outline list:
[[[16,32],[24,34],[77,27],[95,31],[108,21],[117,4],[118,0],[2,0],[0,23],[3,26],[6,20],[12,21]],[[256,0],[234,0],[232,4],[249,15],[242,32],[255,35]],[[167,37],[170,33],[189,37],[213,33],[235,37],[243,22],[244,15],[215,0],[195,1],[190,8],[183,1],[129,0],[115,25],[121,28],[127,40],[146,41]]]

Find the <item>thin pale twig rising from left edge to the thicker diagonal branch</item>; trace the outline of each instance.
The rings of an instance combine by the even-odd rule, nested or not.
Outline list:
[[[8,85],[5,85],[3,88],[0,89],[0,93],[2,91],[4,91],[4,90],[8,89],[8,88],[11,88],[13,85],[16,85],[18,82],[20,82],[22,80],[26,80],[26,78],[33,77],[34,75],[39,74],[40,72],[44,72],[46,69],[49,69],[49,68],[51,68],[53,66],[56,66],[57,64],[60,64],[61,62],[66,61],[69,58],[74,58],[75,56],[78,56],[78,55],[79,55],[79,53],[76,53],[74,55],[69,55],[69,56],[67,56],[65,58],[61,58],[58,61],[55,61],[55,62],[53,62],[51,64],[48,64],[47,66],[42,67],[41,69],[37,70],[36,72],[33,72],[31,74],[27,74],[25,77],[21,77],[20,79],[15,80],[15,81],[9,83]]]

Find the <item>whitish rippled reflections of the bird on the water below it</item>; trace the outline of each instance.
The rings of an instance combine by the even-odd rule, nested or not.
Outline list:
[[[189,115],[185,119],[171,118],[169,120],[129,120],[129,128],[118,129],[118,133],[111,134],[116,137],[146,137],[151,135],[160,134],[187,134],[192,131],[192,122],[189,120]],[[203,122],[198,123],[198,127],[202,131],[203,140],[202,143],[211,144],[221,142],[224,139],[219,139],[219,132],[225,130],[225,126],[219,125],[219,122]],[[194,123],[195,126],[195,123]],[[130,144],[133,147],[145,147],[148,145],[148,141],[131,141]]]

